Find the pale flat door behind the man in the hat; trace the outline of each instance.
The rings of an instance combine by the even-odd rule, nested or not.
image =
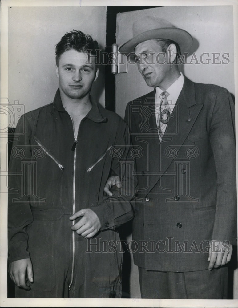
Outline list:
[[[186,64],[180,66],[180,71],[192,81],[226,87],[234,97],[232,6],[164,6],[118,13],[116,26],[118,46],[132,38],[132,24],[143,16],[164,18],[176,27],[188,31],[194,38],[194,44],[189,51]],[[225,60],[225,57],[228,60]],[[125,61],[125,58],[123,59]],[[124,71],[124,66],[121,71]],[[124,118],[127,103],[152,90],[139,74],[137,65],[127,63],[127,72],[115,75],[115,112]],[[127,234],[127,240],[131,240],[131,234]],[[130,296],[140,298],[138,268],[133,264],[132,253],[130,258]],[[237,284],[236,269],[234,298],[238,298]]]

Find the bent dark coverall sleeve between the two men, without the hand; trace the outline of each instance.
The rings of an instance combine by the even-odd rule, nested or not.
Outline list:
[[[128,127],[123,120],[119,122],[115,146],[111,155],[113,173],[119,175],[122,187],[113,196],[103,197],[102,203],[91,208],[99,217],[101,230],[113,229],[134,217],[134,196],[137,179],[133,174],[134,160],[131,156],[131,142]]]

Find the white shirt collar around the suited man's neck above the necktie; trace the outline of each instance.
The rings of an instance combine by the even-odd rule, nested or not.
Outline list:
[[[167,88],[167,92],[169,95],[167,96],[167,109],[172,105],[174,106],[177,102],[177,99],[180,95],[180,92],[184,85],[184,75],[180,72],[180,76],[177,80],[175,80],[174,83],[171,84],[170,87]],[[156,97],[159,97],[163,90],[161,90],[159,87],[156,87]]]

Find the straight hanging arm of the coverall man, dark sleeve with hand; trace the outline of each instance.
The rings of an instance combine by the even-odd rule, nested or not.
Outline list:
[[[9,273],[13,281],[23,288],[26,288],[25,279],[23,282],[26,271],[28,280],[31,281],[32,277],[30,274],[32,273],[32,267],[28,252],[26,226],[33,221],[33,217],[30,210],[30,197],[23,193],[22,184],[22,159],[30,159],[31,157],[30,135],[30,126],[28,125],[26,116],[23,115],[16,127],[12,151],[14,155],[13,153],[11,154],[8,168]],[[21,199],[21,202],[18,202],[18,199]]]

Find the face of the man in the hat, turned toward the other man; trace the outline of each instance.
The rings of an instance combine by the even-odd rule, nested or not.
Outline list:
[[[135,53],[138,57],[139,72],[147,85],[166,90],[171,80],[171,65],[168,64],[169,52],[167,51],[164,55],[157,41],[148,40],[139,43],[135,47]]]

